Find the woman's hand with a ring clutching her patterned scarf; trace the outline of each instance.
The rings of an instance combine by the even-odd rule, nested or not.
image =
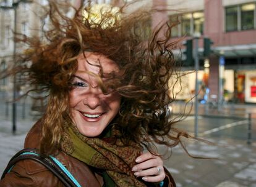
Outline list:
[[[135,160],[138,164],[134,165],[132,171],[136,177],[142,177],[142,180],[151,183],[159,183],[164,180],[165,172],[163,161],[160,156],[143,153]]]

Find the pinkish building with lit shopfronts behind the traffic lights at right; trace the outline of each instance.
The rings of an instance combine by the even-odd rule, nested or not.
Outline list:
[[[179,22],[173,28],[174,39],[199,36],[199,95],[256,103],[256,1],[166,0],[166,4],[172,9],[167,12],[169,21]],[[202,55],[203,38],[213,41],[209,57]],[[193,74],[188,77],[194,81]],[[194,86],[195,81],[191,82],[190,93]]]

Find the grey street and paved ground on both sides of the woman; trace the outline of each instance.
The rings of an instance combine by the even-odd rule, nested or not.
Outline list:
[[[202,108],[200,109],[202,112]],[[254,108],[250,109],[252,110]],[[241,112],[242,109],[237,108],[237,111]],[[22,116],[18,115],[17,133],[12,135],[10,119],[6,119],[4,113],[1,114],[0,173],[12,155],[22,148],[27,130],[35,121],[32,117],[22,119]],[[252,118],[252,143],[247,145],[248,119],[245,114],[237,116],[228,117],[224,113],[223,116],[203,113],[198,116],[198,137],[211,141],[211,144],[182,138],[191,156],[207,159],[194,159],[181,146],[173,149],[158,146],[160,153],[167,153],[164,156],[164,165],[172,173],[178,187],[256,186],[255,118]],[[187,116],[175,127],[193,134],[194,116]]]

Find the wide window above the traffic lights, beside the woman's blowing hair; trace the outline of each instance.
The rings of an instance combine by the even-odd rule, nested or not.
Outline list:
[[[205,22],[203,11],[184,15],[171,15],[169,20],[171,25],[181,23],[172,28],[171,36],[173,37],[194,35],[195,33],[203,34],[203,25]]]

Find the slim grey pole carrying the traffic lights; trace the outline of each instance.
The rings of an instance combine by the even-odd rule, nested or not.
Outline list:
[[[198,58],[198,37],[195,40],[195,137],[198,137],[198,70],[199,70],[199,58]]]

